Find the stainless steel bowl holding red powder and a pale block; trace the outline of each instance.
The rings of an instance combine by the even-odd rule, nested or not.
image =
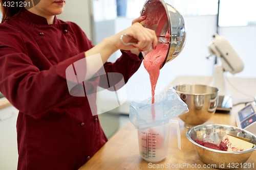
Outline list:
[[[186,132],[187,139],[193,143],[194,150],[202,162],[216,165],[217,168],[222,169],[231,169],[235,166],[241,167],[241,165],[244,167],[244,163],[249,159],[252,152],[256,150],[256,147],[246,151],[227,152],[209,149],[195,142],[195,140],[199,139],[219,144],[226,134],[240,136],[249,139],[250,143],[256,144],[256,136],[254,134],[228,125],[199,125],[190,128]],[[248,166],[246,167],[248,168]],[[251,166],[251,168],[253,167]]]

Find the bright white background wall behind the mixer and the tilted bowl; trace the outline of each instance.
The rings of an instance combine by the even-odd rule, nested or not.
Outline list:
[[[161,90],[176,77],[182,75],[191,76],[212,76],[214,73],[214,57],[207,60],[209,54],[207,43],[212,40],[212,35],[216,32],[216,15],[206,16],[185,16],[187,25],[187,42],[182,53],[174,60],[167,63],[161,70],[156,86],[156,93]],[[120,18],[119,18],[120,19]],[[120,31],[126,26],[130,26],[131,20],[122,18],[116,25],[116,31]],[[224,36],[234,50],[244,61],[244,69],[236,75],[227,73],[228,77],[256,78],[256,26],[243,27],[221,27],[219,34]],[[236,85],[233,85],[236,86]],[[126,84],[127,101],[119,110],[129,113],[131,101],[142,101],[151,96],[150,78],[143,64],[136,74]]]

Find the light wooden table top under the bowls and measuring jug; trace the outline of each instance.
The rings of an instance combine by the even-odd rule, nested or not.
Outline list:
[[[175,79],[171,85],[183,84],[183,83],[198,83],[198,84],[209,84],[211,81],[210,77],[178,77]],[[240,90],[250,95],[256,96],[256,79],[243,79],[243,78],[229,78],[229,81]],[[168,88],[168,87],[167,87]],[[230,85],[227,84],[227,89],[232,94],[233,101],[240,102],[242,100],[252,100],[245,95],[232,89]],[[238,112],[244,107],[244,104],[234,106],[230,113],[218,113],[216,112],[205,124],[224,124],[236,126],[236,118],[234,113]],[[180,131],[181,131],[181,150],[178,149],[177,144],[177,133],[176,129],[172,127],[170,129],[169,136],[169,147],[167,157],[158,163],[153,163],[157,165],[166,165],[170,168],[150,168],[150,165],[139,155],[138,147],[138,136],[137,130],[129,122],[120,131],[118,131],[108,142],[106,142],[103,147],[79,170],[83,169],[200,169],[192,168],[195,165],[200,164],[203,167],[204,163],[196,155],[192,143],[186,138],[187,129],[184,128],[184,122],[180,118],[175,118],[179,120]],[[166,164],[165,164],[166,163]],[[185,164],[182,167],[180,164]],[[256,169],[256,152],[254,151],[247,163],[254,163],[254,168],[236,168],[236,169]],[[188,164],[192,166],[189,168]],[[179,167],[178,167],[179,165]],[[172,168],[173,166],[173,168]],[[176,166],[176,168],[174,167]],[[188,167],[187,167],[188,166]],[[204,168],[201,168],[204,169]],[[205,169],[215,169],[215,168],[205,168]]]

